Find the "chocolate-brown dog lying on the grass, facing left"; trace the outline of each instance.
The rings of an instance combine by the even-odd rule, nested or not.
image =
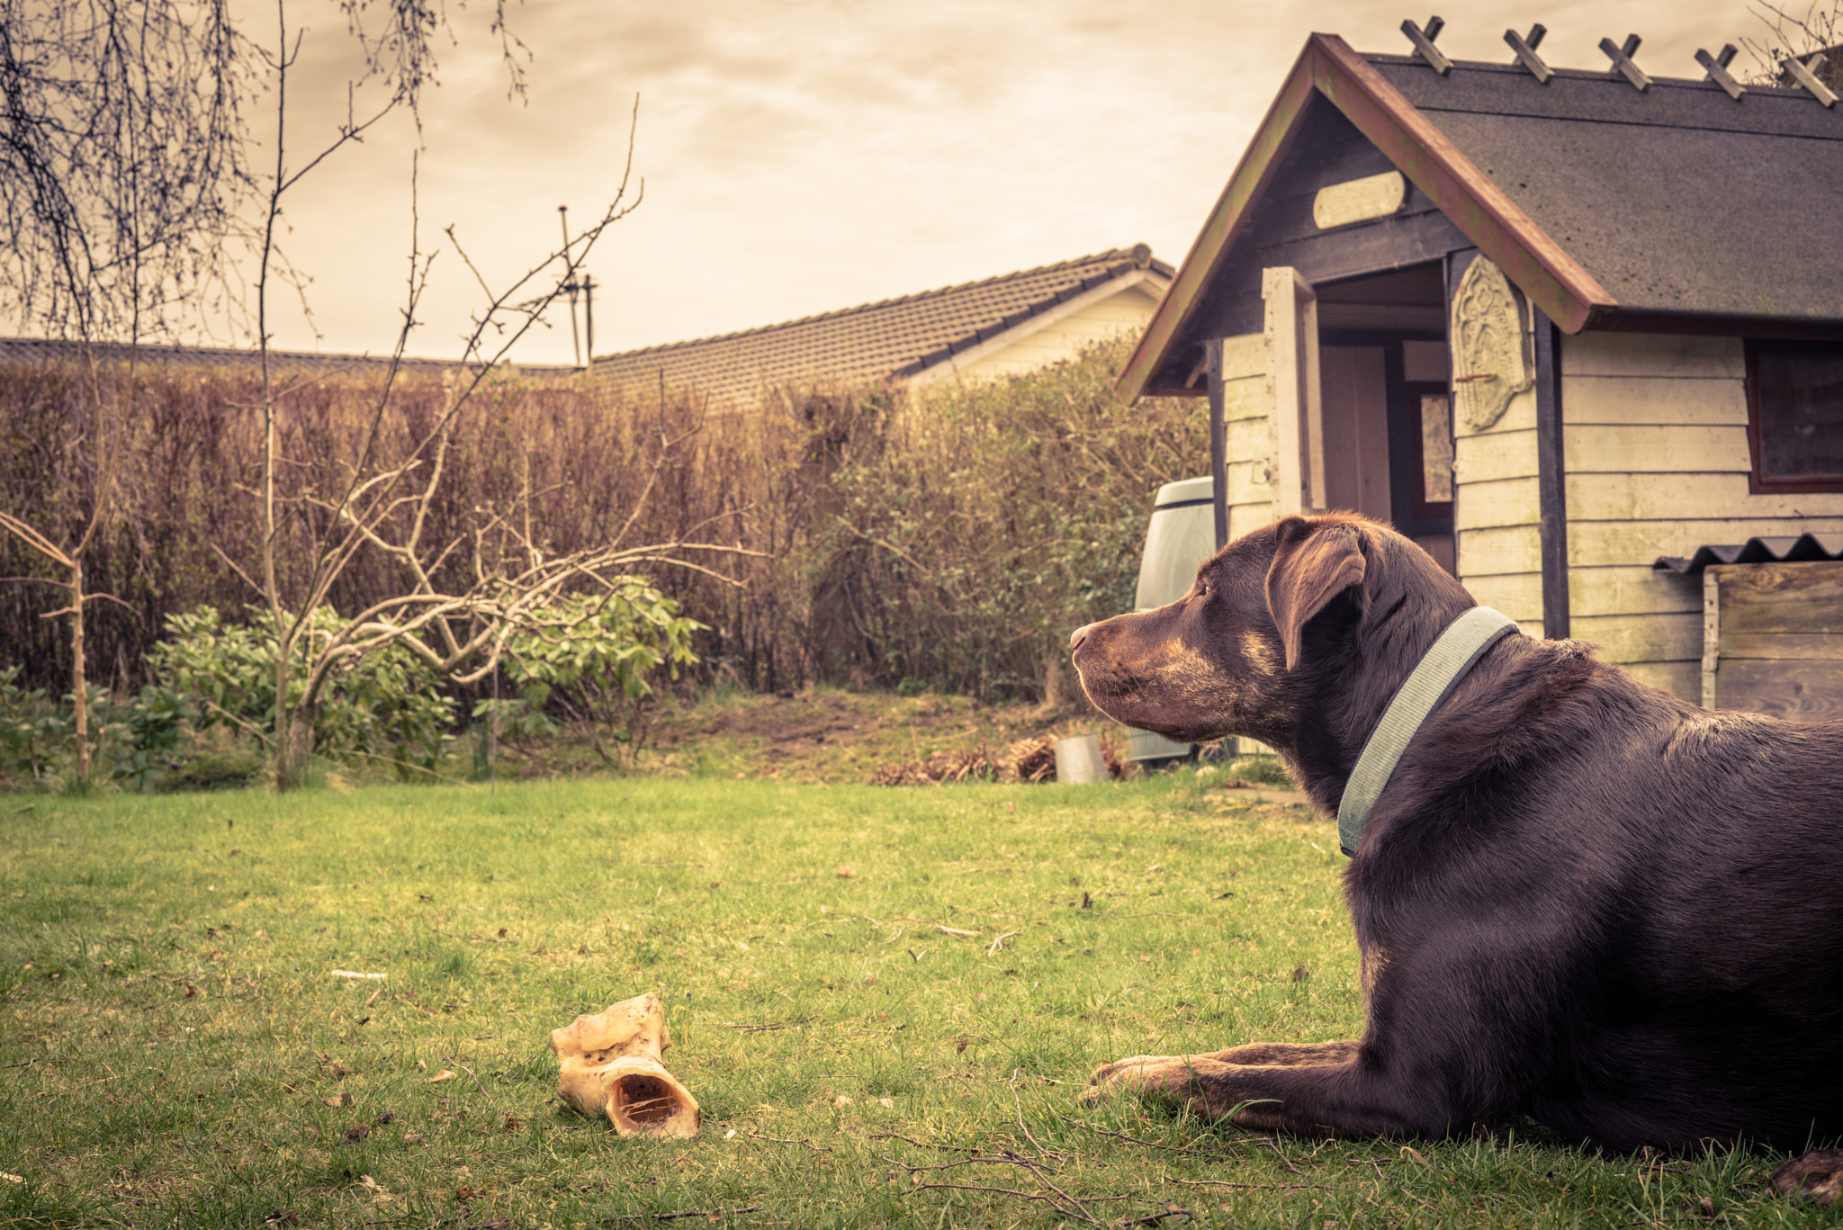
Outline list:
[[[1388,526],[1292,516],[1069,644],[1108,716],[1261,739],[1336,813],[1391,695],[1474,605]],[[1316,1136],[1515,1114],[1611,1149],[1843,1136],[1843,723],[1701,710],[1513,633],[1410,743],[1344,891],[1360,1040],[1122,1059],[1089,1095]]]

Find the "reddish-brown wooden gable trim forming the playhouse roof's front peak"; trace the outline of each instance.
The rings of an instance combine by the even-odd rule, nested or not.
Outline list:
[[[1170,358],[1170,347],[1227,256],[1250,203],[1266,188],[1292,144],[1314,92],[1342,111],[1563,332],[1578,334],[1596,315],[1618,306],[1579,262],[1473,166],[1369,61],[1338,35],[1314,33],[1191,245],[1157,313],[1121,369],[1115,380],[1121,396],[1133,400],[1146,393]]]

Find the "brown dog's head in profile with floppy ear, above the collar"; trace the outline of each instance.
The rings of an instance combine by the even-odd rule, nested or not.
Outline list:
[[[1351,513],[1288,516],[1222,548],[1191,592],[1076,629],[1082,688],[1109,717],[1185,743],[1290,745],[1301,701],[1351,668],[1386,697],[1471,596],[1419,546]]]

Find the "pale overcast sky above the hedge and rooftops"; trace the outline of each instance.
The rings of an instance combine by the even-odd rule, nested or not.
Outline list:
[[[299,164],[345,116],[350,61],[330,0],[289,7],[308,26],[289,83]],[[1401,20],[1428,17],[1375,0],[527,0],[509,17],[529,89],[509,101],[488,11],[448,6],[455,41],[422,109],[424,247],[452,223],[496,288],[540,260],[558,205],[581,227],[614,199],[638,96],[628,192],[643,181],[645,201],[590,258],[597,354],[1135,242],[1178,264],[1310,31],[1404,52]],[[1699,46],[1766,31],[1745,0],[1443,17],[1439,46],[1460,59],[1508,61],[1504,28],[1541,20],[1550,65],[1603,68],[1600,39],[1637,31],[1638,65],[1683,77],[1701,77]],[[273,17],[251,9],[245,31],[273,42]],[[415,144],[404,116],[297,188],[286,242],[313,278],[319,337],[284,310],[276,345],[391,347]],[[457,354],[479,302],[442,251],[411,352]],[[569,361],[568,315],[516,358]]]

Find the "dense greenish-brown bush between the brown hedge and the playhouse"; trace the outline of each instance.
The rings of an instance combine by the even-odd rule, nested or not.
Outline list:
[[[1122,358],[938,385],[837,450],[809,561],[820,673],[1054,693],[1069,633],[1132,610],[1157,485],[1207,465],[1207,406],[1124,404]]]

